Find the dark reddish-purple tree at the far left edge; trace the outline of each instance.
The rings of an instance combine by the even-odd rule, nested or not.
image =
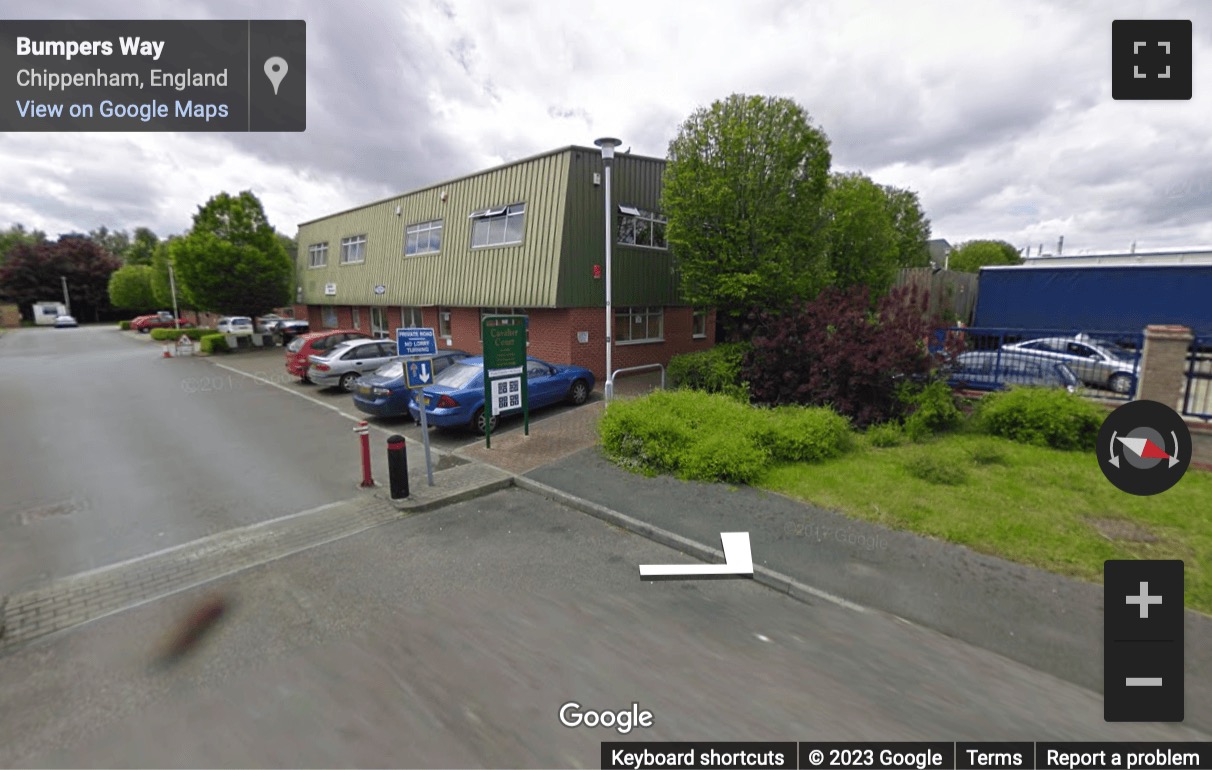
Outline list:
[[[116,257],[86,236],[23,244],[0,268],[0,293],[28,315],[35,302],[59,300],[67,279],[73,314],[99,320],[109,310],[109,276],[120,267]]]

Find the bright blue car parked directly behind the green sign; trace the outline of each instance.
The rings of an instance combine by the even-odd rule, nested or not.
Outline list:
[[[548,364],[537,358],[526,359],[526,388],[530,409],[568,401],[584,404],[594,389],[594,373],[584,366]],[[428,401],[425,422],[440,428],[471,428],[484,435],[484,357],[465,358],[452,364],[434,378],[434,384],[424,388]],[[421,421],[417,401],[408,404],[412,418]],[[521,406],[505,409],[502,415],[492,415],[491,429],[497,429],[501,416],[521,413]]]

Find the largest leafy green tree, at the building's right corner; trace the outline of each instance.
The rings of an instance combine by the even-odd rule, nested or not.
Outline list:
[[[686,301],[715,307],[725,336],[753,307],[824,286],[830,161],[825,133],[777,97],[734,93],[691,114],[669,143],[667,240]]]

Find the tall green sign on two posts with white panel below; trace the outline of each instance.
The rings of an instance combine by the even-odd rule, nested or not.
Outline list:
[[[526,390],[526,316],[486,315],[484,340],[484,446],[492,449],[492,418],[522,410],[522,430],[530,435]]]

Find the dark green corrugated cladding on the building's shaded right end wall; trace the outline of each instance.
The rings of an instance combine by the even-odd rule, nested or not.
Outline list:
[[[568,169],[567,219],[564,259],[560,263],[560,307],[604,307],[605,279],[594,278],[594,266],[606,269],[602,222],[606,216],[606,177],[601,153],[573,148]],[[661,176],[665,164],[656,158],[614,154],[611,167],[611,238],[614,280],[612,303],[624,306],[678,304],[678,284],[668,250],[622,246],[617,239],[618,207],[659,211]],[[594,173],[601,184],[594,184]]]

